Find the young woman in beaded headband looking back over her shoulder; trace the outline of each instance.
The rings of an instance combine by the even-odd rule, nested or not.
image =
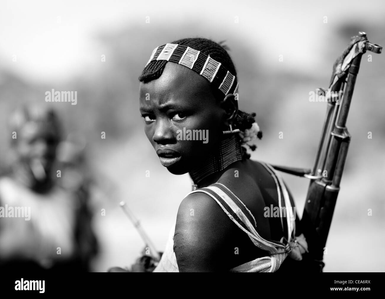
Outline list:
[[[147,138],[168,171],[193,181],[154,272],[274,272],[286,257],[301,260],[307,244],[289,191],[246,152],[262,134],[256,114],[238,110],[224,47],[202,38],[162,45],[139,81]],[[271,217],[271,209],[281,213]]]

